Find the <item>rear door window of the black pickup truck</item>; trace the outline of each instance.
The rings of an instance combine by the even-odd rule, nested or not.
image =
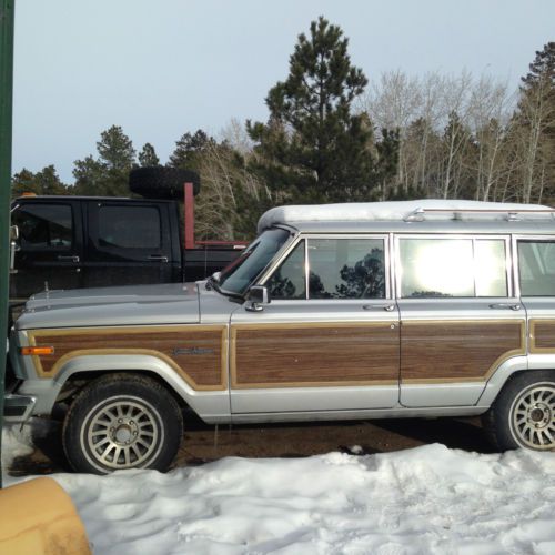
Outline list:
[[[161,242],[161,220],[158,208],[100,206],[100,246],[160,249]]]

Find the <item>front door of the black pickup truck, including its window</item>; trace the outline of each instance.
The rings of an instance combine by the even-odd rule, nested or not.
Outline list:
[[[27,300],[46,287],[82,286],[82,226],[79,202],[65,199],[21,202],[11,214],[18,226],[10,300]]]

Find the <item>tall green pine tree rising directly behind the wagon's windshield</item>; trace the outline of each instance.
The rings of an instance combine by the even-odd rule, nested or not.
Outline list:
[[[268,94],[268,123],[248,122],[260,155],[253,170],[293,201],[373,195],[372,127],[352,113],[367,80],[351,64],[347,46],[339,27],[313,21],[310,37],[299,36],[287,79]]]

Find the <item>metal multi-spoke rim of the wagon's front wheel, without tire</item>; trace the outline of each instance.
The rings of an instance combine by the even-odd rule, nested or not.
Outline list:
[[[99,470],[148,466],[164,441],[159,412],[139,397],[111,397],[91,408],[81,428],[81,445]]]

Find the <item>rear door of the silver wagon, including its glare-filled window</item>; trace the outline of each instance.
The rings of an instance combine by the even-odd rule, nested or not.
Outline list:
[[[475,404],[492,373],[526,352],[508,236],[400,235],[401,403]]]

